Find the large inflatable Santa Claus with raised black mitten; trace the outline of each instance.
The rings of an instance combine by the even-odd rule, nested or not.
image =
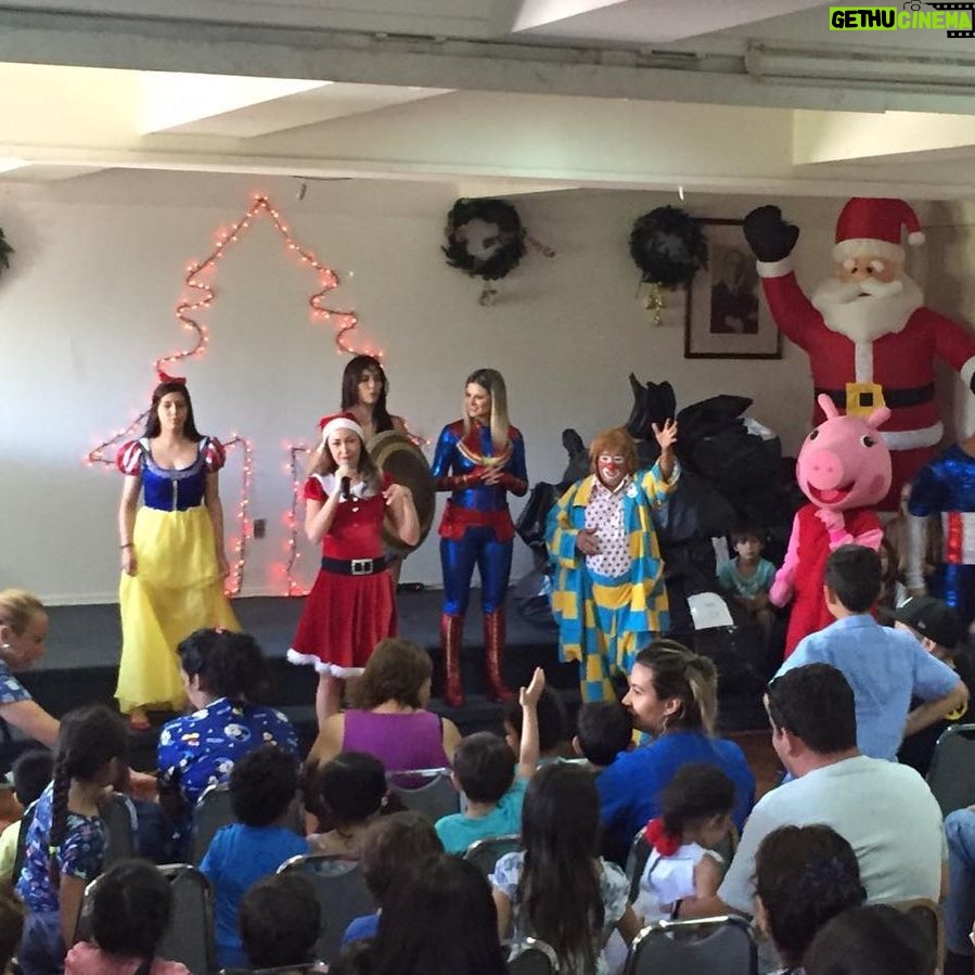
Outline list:
[[[798,228],[777,206],[759,207],[744,221],[772,318],[809,356],[814,395],[825,394],[848,415],[890,410],[882,435],[894,477],[878,506],[891,511],[901,485],[931,460],[944,433],[935,357],[975,392],[975,336],[924,307],[921,288],[903,269],[905,228],[908,243],[923,243],[918,217],[902,200],[849,200],[836,223],[835,273],[809,298],[790,259]],[[813,424],[822,419],[816,408]]]

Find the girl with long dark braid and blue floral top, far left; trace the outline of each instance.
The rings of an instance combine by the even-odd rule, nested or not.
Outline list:
[[[70,711],[61,722],[54,779],[37,800],[17,881],[30,912],[17,957],[24,975],[64,971],[85,887],[102,872],[99,799],[120,778],[126,745],[125,724],[104,705]]]

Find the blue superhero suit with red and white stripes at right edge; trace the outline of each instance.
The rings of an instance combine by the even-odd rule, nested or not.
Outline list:
[[[975,620],[975,457],[955,445],[922,467],[908,511],[941,518],[941,563],[925,581],[932,595],[958,613],[964,638]]]

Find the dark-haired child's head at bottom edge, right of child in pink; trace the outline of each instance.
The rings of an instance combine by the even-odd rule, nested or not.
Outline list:
[[[321,906],[307,877],[275,873],[258,881],[241,900],[240,923],[252,968],[317,971],[308,966],[321,934]]]

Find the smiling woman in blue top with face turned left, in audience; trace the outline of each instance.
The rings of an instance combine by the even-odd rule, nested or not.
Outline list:
[[[690,761],[717,766],[734,783],[731,819],[741,830],[755,803],[755,777],[742,749],[715,735],[718,673],[711,660],[658,640],[637,654],[623,703],[633,727],[653,740],[617,756],[596,779],[604,855],[626,862],[637,832],[660,812],[662,790]]]

